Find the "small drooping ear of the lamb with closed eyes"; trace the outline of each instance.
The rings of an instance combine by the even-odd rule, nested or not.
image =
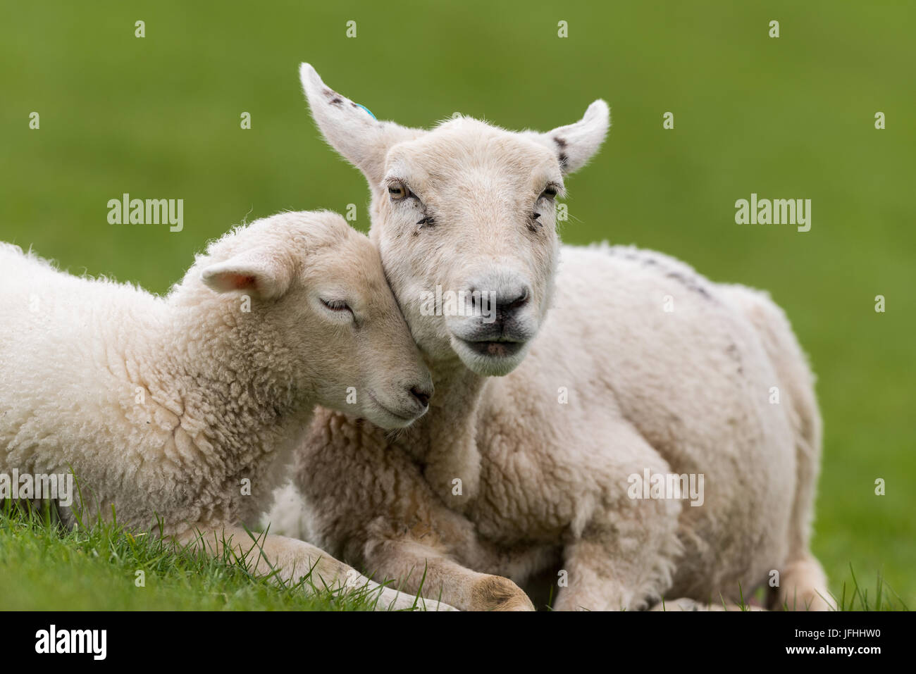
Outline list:
[[[201,279],[216,292],[238,290],[258,299],[277,299],[289,289],[292,270],[276,255],[253,250],[204,267]]]

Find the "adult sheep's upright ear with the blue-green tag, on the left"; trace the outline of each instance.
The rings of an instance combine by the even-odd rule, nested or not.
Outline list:
[[[325,140],[376,187],[385,177],[388,148],[424,133],[394,122],[379,122],[363,105],[333,91],[309,63],[299,68],[311,116]]]

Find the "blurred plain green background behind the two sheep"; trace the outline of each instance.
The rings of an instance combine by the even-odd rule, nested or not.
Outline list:
[[[156,292],[243,218],[355,203],[367,229],[364,179],[311,124],[302,60],[405,125],[459,111],[546,130],[605,98],[613,127],[567,181],[563,238],[656,248],[771,291],[819,377],[814,551],[834,592],[851,563],[916,605],[916,5],[36,1],[3,14],[0,239]],[[183,232],[108,224],[123,192],[183,199]],[[751,192],[812,199],[812,230],[737,225]]]

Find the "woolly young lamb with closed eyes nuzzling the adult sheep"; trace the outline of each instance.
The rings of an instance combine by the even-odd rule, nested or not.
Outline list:
[[[333,212],[258,220],[164,298],[15,245],[0,245],[0,269],[0,473],[72,468],[83,517],[114,506],[126,527],[232,545],[284,581],[314,568],[315,586],[378,588],[308,543],[245,531],[317,403],[387,429],[429,407],[430,373],[364,234]],[[60,508],[66,526],[75,507]],[[384,588],[376,606],[412,603]]]

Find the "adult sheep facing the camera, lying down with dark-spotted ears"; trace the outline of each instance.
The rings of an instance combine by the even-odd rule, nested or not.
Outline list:
[[[668,255],[560,245],[554,201],[602,144],[606,103],[547,133],[460,115],[425,131],[300,77],[365,174],[369,235],[437,392],[396,437],[316,414],[293,478],[313,539],[465,610],[530,609],[519,585],[551,569],[556,610],[764,583],[773,606],[827,608],[809,549],[821,419],[784,313]],[[463,315],[424,310],[437,287],[488,293],[496,320],[473,296]]]

